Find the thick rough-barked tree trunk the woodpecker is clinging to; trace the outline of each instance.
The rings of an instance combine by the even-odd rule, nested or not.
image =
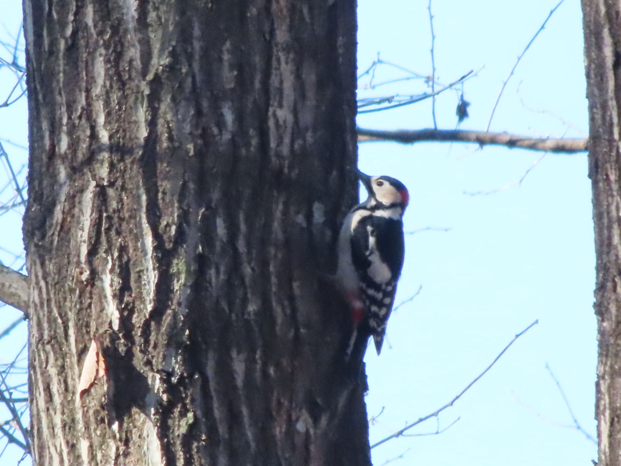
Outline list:
[[[318,278],[356,196],[355,1],[24,12],[35,464],[369,464]]]

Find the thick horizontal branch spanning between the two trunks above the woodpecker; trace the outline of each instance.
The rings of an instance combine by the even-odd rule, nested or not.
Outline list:
[[[452,129],[415,129],[384,131],[358,128],[358,142],[472,142],[479,145],[503,145],[508,148],[542,152],[578,153],[589,150],[588,139],[534,138],[509,133],[463,131]]]

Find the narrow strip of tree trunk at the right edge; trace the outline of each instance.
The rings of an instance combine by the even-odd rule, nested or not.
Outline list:
[[[621,2],[582,0],[596,245],[599,465],[621,459]]]

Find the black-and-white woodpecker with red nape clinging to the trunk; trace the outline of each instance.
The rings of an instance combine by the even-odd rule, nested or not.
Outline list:
[[[369,336],[382,349],[404,258],[402,216],[409,202],[406,186],[390,176],[358,171],[368,191],[352,208],[338,238],[337,282],[351,310],[353,334],[346,357],[364,356]],[[357,351],[355,350],[357,348]]]

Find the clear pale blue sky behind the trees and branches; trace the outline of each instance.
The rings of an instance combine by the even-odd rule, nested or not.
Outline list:
[[[1,21],[16,34],[19,2],[5,3]],[[555,4],[433,0],[438,79],[448,83],[484,65],[464,86],[471,106],[462,129],[486,127],[502,80]],[[379,52],[384,60],[429,75],[427,5],[427,0],[360,0],[360,70]],[[0,40],[6,39],[7,32],[0,29]],[[491,130],[584,137],[588,120],[582,47],[579,2],[566,0],[517,67]],[[0,50],[0,57],[8,58],[6,50]],[[375,82],[400,76],[381,67]],[[12,86],[8,79],[0,72],[1,92]],[[412,80],[360,91],[360,96],[427,90],[423,80]],[[438,127],[455,127],[456,103],[453,91],[438,97]],[[431,102],[361,115],[358,124],[374,129],[431,127]],[[0,109],[0,138],[25,144],[26,126],[25,101]],[[21,167],[25,151],[3,144],[14,166]],[[401,454],[394,464],[590,464],[596,445],[573,428],[545,368],[549,363],[579,423],[595,436],[595,257],[586,155],[545,155],[521,186],[499,190],[522,178],[542,154],[475,149],[462,144],[360,146],[361,170],[395,176],[408,186],[407,231],[450,228],[407,237],[397,303],[420,285],[422,290],[392,316],[381,357],[368,352],[369,416],[384,408],[371,427],[371,442],[450,401],[514,334],[535,319],[540,323],[440,415],[440,429],[456,418],[460,421],[437,436],[402,437],[381,445],[373,450],[374,464]],[[5,178],[0,170],[0,188]],[[494,190],[499,191],[465,194]],[[11,194],[0,196],[6,201]],[[0,231],[0,246],[20,254],[19,214],[0,216]],[[0,259],[12,263],[11,255],[2,251]],[[0,329],[17,316],[0,309]],[[0,362],[11,359],[24,338],[22,324],[11,339],[0,341]],[[436,428],[432,419],[412,433]],[[2,464],[11,464],[6,458]]]

